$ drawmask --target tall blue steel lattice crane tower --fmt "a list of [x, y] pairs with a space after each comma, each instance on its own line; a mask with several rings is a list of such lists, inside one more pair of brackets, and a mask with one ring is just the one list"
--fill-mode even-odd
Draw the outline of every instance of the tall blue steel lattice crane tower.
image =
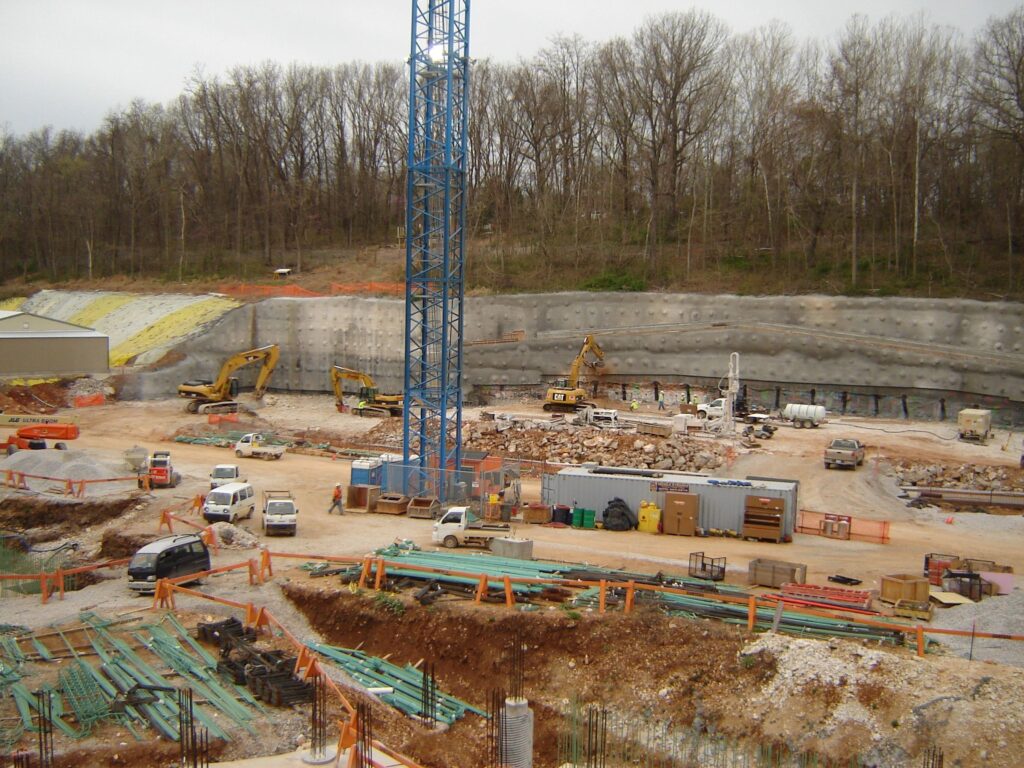
[[462, 458], [469, 0], [413, 0], [409, 69], [402, 456], [443, 502]]

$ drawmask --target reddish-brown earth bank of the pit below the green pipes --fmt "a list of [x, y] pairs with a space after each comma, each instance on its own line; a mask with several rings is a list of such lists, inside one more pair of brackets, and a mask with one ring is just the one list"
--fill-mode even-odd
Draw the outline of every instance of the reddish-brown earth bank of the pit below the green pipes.
[[[397, 613], [348, 591], [291, 583], [284, 592], [326, 642], [359, 647], [397, 665], [432, 663], [440, 689], [481, 709], [489, 691], [508, 689], [513, 638], [520, 633], [538, 768], [558, 765], [563, 715], [573, 697], [638, 724], [653, 716], [675, 728], [713, 726], [732, 738], [765, 740], [729, 702], [736, 691], [770, 677], [773, 667], [770, 659], [743, 664], [744, 635], [733, 628], [648, 610], [630, 616], [558, 608], [512, 614], [459, 603], [423, 608], [412, 600]], [[399, 751], [436, 768], [485, 765], [485, 723], [472, 715], [442, 738], [410, 735], [408, 729], [383, 734]]]

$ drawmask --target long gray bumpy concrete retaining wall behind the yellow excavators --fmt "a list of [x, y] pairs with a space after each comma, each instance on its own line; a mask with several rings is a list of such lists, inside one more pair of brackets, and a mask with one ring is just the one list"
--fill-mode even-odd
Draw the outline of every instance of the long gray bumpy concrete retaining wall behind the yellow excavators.
[[[465, 383], [537, 385], [564, 375], [583, 338], [605, 351], [606, 381], [717, 381], [729, 353], [743, 381], [819, 386], [824, 393], [966, 393], [1024, 403], [1024, 304], [826, 296], [540, 294], [472, 297], [467, 342], [522, 330], [516, 343], [469, 345]], [[173, 394], [212, 378], [225, 357], [282, 346], [271, 389], [329, 391], [328, 371], [367, 371], [402, 386], [403, 304], [395, 299], [274, 298], [234, 309], [178, 347], [185, 359], [141, 373], [126, 394]], [[240, 372], [251, 386], [255, 371]], [[953, 412], [954, 413], [954, 412]]]

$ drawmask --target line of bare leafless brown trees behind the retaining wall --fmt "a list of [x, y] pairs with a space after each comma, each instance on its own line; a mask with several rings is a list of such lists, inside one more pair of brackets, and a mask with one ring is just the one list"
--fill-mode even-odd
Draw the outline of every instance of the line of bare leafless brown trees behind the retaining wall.
[[[1024, 7], [827, 41], [702, 11], [470, 80], [471, 287], [1021, 293]], [[394, 243], [408, 71], [196, 75], [89, 135], [0, 134], [0, 276], [297, 270]]]

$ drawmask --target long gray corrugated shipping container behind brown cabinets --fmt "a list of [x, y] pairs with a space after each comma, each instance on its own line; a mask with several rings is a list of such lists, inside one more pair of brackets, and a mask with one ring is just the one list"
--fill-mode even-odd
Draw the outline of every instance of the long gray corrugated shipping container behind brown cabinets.
[[653, 502], [665, 509], [665, 494], [694, 494], [700, 500], [697, 525], [705, 530], [718, 528], [739, 532], [749, 496], [782, 499], [782, 537], [792, 541], [797, 527], [798, 492], [796, 480], [736, 480], [663, 470], [618, 467], [566, 467], [541, 478], [541, 500], [545, 504], [593, 509], [600, 521], [608, 502], [618, 498], [634, 512], [641, 502]]

